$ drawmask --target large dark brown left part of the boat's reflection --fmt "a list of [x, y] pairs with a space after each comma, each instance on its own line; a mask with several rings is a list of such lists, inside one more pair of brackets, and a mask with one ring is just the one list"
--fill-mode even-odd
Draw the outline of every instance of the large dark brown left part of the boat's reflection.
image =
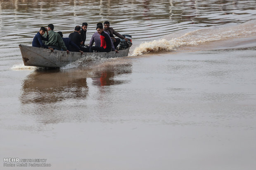
[[66, 99], [86, 98], [86, 76], [60, 70], [35, 71], [22, 85], [22, 103], [52, 103]]

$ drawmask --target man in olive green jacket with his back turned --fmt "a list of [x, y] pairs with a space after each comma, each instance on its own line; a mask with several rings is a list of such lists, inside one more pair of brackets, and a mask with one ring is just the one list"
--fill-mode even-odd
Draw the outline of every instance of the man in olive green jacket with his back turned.
[[[54, 25], [49, 24], [48, 25], [49, 41], [47, 41], [47, 42], [44, 41], [45, 45], [50, 46], [57, 50], [63, 49], [64, 51], [66, 51], [66, 53], [69, 53], [60, 34], [58, 34], [57, 32], [55, 32], [53, 30], [54, 30]], [[46, 37], [46, 35], [44, 35], [44, 37]]]

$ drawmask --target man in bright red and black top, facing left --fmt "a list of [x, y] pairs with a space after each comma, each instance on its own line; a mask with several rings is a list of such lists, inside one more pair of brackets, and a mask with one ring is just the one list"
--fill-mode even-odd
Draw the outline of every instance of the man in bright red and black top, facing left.
[[93, 51], [97, 52], [110, 52], [111, 51], [111, 39], [109, 36], [103, 31], [103, 26], [99, 25], [96, 28], [98, 34], [100, 34], [100, 47], [92, 46], [90, 47], [90, 53]]

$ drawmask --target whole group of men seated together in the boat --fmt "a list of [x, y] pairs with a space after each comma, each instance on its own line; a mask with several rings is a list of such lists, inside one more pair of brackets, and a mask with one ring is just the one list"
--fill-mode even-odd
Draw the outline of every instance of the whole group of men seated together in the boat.
[[[109, 21], [104, 22], [104, 27], [102, 23], [97, 23], [96, 30], [92, 35], [89, 46], [85, 45], [86, 31], [88, 24], [82, 23], [82, 27], [77, 25], [74, 32], [69, 34], [69, 37], [63, 38], [61, 31], [55, 32], [54, 25], [49, 24], [48, 28], [41, 27], [39, 32], [35, 35], [32, 41], [33, 47], [47, 48], [50, 50], [62, 50], [69, 53], [73, 52], [110, 52], [118, 51], [116, 47], [119, 45], [121, 39], [127, 41], [127, 39], [116, 32], [112, 27], [109, 27]], [[46, 34], [45, 34], [46, 32]], [[119, 38], [115, 38], [116, 35]], [[93, 44], [95, 44], [93, 46]]]

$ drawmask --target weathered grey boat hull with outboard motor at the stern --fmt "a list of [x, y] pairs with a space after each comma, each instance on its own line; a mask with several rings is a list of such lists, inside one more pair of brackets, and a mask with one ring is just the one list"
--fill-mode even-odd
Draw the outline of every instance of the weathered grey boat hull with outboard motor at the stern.
[[114, 57], [125, 57], [128, 56], [130, 46], [132, 45], [132, 40], [130, 35], [124, 35], [128, 38], [128, 41], [122, 40], [119, 44], [119, 53], [111, 51], [98, 52], [98, 53], [83, 53], [80, 52], [69, 52], [50, 49], [38, 48], [33, 46], [27, 46], [24, 44], [19, 44], [21, 50], [22, 59], [25, 66], [36, 66], [36, 67], [63, 67], [67, 64], [75, 62], [86, 56], [102, 57], [102, 58], [114, 58]]

